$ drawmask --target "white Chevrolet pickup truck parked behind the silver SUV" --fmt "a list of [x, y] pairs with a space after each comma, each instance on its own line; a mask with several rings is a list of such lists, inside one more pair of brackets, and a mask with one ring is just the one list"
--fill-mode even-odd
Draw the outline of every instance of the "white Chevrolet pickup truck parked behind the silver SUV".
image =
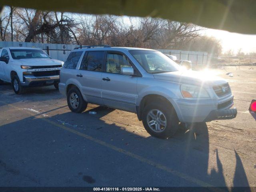
[[10, 82], [16, 94], [25, 87], [54, 85], [58, 89], [64, 62], [39, 48], [4, 47], [0, 50], [0, 83]]

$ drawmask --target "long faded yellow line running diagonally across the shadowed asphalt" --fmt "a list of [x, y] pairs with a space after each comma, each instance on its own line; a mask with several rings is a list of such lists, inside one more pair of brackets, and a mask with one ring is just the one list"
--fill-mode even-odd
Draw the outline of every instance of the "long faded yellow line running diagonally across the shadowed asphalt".
[[[1, 102], [1, 101], [0, 101], [0, 102]], [[1, 103], [6, 104], [6, 105], [8, 105], [8, 106], [11, 106], [12, 108], [15, 108], [15, 109], [17, 109], [17, 110], [21, 110], [20, 108], [17, 108], [16, 106], [14, 106], [14, 105], [12, 105], [12, 104], [8, 104], [8, 103], [5, 103], [5, 102], [1, 102]], [[104, 142], [104, 141], [102, 141], [102, 140], [96, 139], [96, 138], [94, 138], [94, 137], [92, 137], [92, 136], [89, 136], [89, 135], [87, 135], [87, 134], [84, 134], [84, 133], [78, 132], [78, 131], [76, 131], [76, 130], [74, 130], [74, 129], [68, 128], [68, 127], [65, 126], [65, 125], [58, 124], [58, 123], [56, 123], [56, 122], [54, 122], [54, 121], [52, 121], [52, 120], [49, 120], [48, 118], [45, 118], [44, 116], [39, 116], [38, 114], [35, 115], [35, 114], [33, 114], [31, 111], [27, 111], [27, 110], [24, 110], [24, 111], [25, 111], [27, 114], [32, 115], [34, 118], [38, 118], [38, 119], [40, 119], [40, 120], [43, 120], [43, 121], [45, 121], [45, 122], [48, 122], [49, 124], [52, 124], [52, 125], [54, 125], [54, 126], [56, 126], [56, 127], [58, 127], [58, 128], [62, 128], [62, 129], [64, 129], [64, 130], [68, 131], [68, 132], [72, 132], [72, 133], [74, 133], [74, 134], [76, 134], [76, 135], [78, 135], [78, 136], [81, 136], [81, 137], [86, 138], [86, 139], [88, 139], [88, 140], [91, 140], [91, 141], [93, 141], [93, 142], [95, 142], [95, 143], [97, 143], [97, 144], [100, 144], [100, 145], [102, 145], [102, 146], [105, 146], [105, 147], [110, 148], [110, 149], [112, 149], [112, 150], [115, 150], [115, 151], [117, 151], [117, 152], [120, 152], [120, 153], [122, 153], [122, 154], [125, 154], [125, 155], [127, 155], [127, 156], [130, 156], [130, 157], [132, 157], [132, 158], [134, 158], [134, 159], [137, 159], [137, 160], [139, 160], [139, 161], [141, 161], [141, 162], [144, 162], [144, 163], [146, 163], [146, 164], [149, 164], [149, 165], [151, 165], [151, 166], [154, 166], [154, 167], [156, 167], [156, 168], [158, 168], [158, 169], [160, 169], [160, 170], [164, 170], [164, 171], [166, 171], [166, 172], [169, 172], [169, 173], [171, 173], [171, 174], [173, 174], [173, 175], [176, 175], [176, 176], [178, 176], [178, 177], [180, 177], [180, 178], [182, 178], [182, 179], [185, 179], [185, 180], [187, 180], [187, 181], [189, 181], [189, 182], [193, 182], [193, 183], [195, 183], [195, 184], [197, 184], [197, 185], [199, 185], [199, 186], [202, 186], [202, 187], [214, 187], [214, 186], [212, 186], [211, 184], [208, 184], [208, 183], [206, 183], [206, 182], [204, 182], [204, 181], [202, 181], [202, 180], [198, 180], [198, 179], [196, 179], [196, 178], [194, 178], [194, 177], [190, 177], [190, 176], [188, 176], [188, 175], [186, 175], [186, 174], [184, 174], [184, 173], [181, 173], [181, 172], [178, 172], [178, 171], [176, 171], [176, 170], [173, 170], [172, 168], [169, 168], [169, 167], [167, 167], [167, 166], [164, 166], [164, 165], [162, 165], [162, 164], [160, 164], [160, 163], [154, 162], [154, 161], [152, 161], [152, 160], [149, 160], [149, 159], [147, 159], [147, 158], [144, 158], [144, 157], [142, 157], [142, 156], [139, 156], [139, 155], [137, 155], [137, 154], [134, 154], [134, 153], [132, 153], [132, 152], [129, 152], [129, 151], [127, 151], [127, 150], [124, 150], [124, 149], [122, 149], [122, 148], [118, 148], [118, 147], [116, 147], [116, 146], [114, 146], [114, 145], [112, 145], [112, 144], [108, 144], [108, 143], [106, 143], [106, 142]], [[218, 192], [223, 192], [222, 189], [216, 188], [216, 187], [210, 188], [210, 190], [212, 190], [212, 191], [218, 191]]]

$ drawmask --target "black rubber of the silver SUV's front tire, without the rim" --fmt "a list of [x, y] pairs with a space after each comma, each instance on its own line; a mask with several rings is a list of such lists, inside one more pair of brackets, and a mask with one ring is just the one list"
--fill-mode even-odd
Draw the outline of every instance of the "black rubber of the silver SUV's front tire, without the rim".
[[[158, 110], [158, 111], [162, 112], [163, 115], [161, 115], [160, 118], [166, 119], [166, 126], [165, 126], [165, 128], [161, 128], [162, 130], [160, 132], [156, 132], [156, 131], [152, 130], [152, 128], [150, 128], [150, 126], [148, 124], [148, 120], [147, 120], [148, 114], [150, 111], [154, 112], [154, 110]], [[151, 121], [154, 121], [154, 120], [152, 119]], [[162, 138], [162, 139], [169, 138], [169, 137], [173, 136], [176, 133], [178, 126], [179, 126], [179, 120], [178, 120], [178, 117], [177, 117], [177, 114], [176, 114], [174, 108], [164, 102], [154, 102], [153, 101], [152, 103], [146, 105], [142, 111], [142, 122], [143, 122], [144, 128], [150, 135], [152, 135], [154, 137]], [[155, 128], [156, 128], [156, 125], [154, 125], [154, 124], [159, 124], [158, 122], [160, 122], [160, 121], [157, 121], [157, 120], [154, 121], [152, 126], [155, 126]]]

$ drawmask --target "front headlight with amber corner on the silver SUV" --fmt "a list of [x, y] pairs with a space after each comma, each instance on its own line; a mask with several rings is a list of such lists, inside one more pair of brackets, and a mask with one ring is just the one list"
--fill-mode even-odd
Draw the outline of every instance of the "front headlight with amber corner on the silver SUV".
[[207, 91], [199, 86], [182, 84], [180, 91], [184, 98], [210, 98]]

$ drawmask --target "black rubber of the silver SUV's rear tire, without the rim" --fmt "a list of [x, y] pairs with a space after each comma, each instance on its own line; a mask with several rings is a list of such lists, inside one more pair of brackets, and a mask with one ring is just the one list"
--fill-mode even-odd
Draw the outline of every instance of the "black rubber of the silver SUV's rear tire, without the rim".
[[[70, 96], [71, 94], [75, 94], [78, 98], [78, 105], [77, 107], [74, 106], [71, 102], [70, 102], [70, 99], [72, 98], [72, 96]], [[74, 95], [73, 95], [74, 96]], [[75, 112], [75, 113], [82, 113], [84, 110], [86, 110], [86, 107], [87, 107], [87, 102], [84, 100], [81, 92], [79, 91], [78, 88], [74, 87], [74, 88], [71, 88], [69, 91], [68, 91], [68, 94], [67, 94], [67, 102], [68, 102], [68, 107], [69, 109], [72, 111], [72, 112]]]

